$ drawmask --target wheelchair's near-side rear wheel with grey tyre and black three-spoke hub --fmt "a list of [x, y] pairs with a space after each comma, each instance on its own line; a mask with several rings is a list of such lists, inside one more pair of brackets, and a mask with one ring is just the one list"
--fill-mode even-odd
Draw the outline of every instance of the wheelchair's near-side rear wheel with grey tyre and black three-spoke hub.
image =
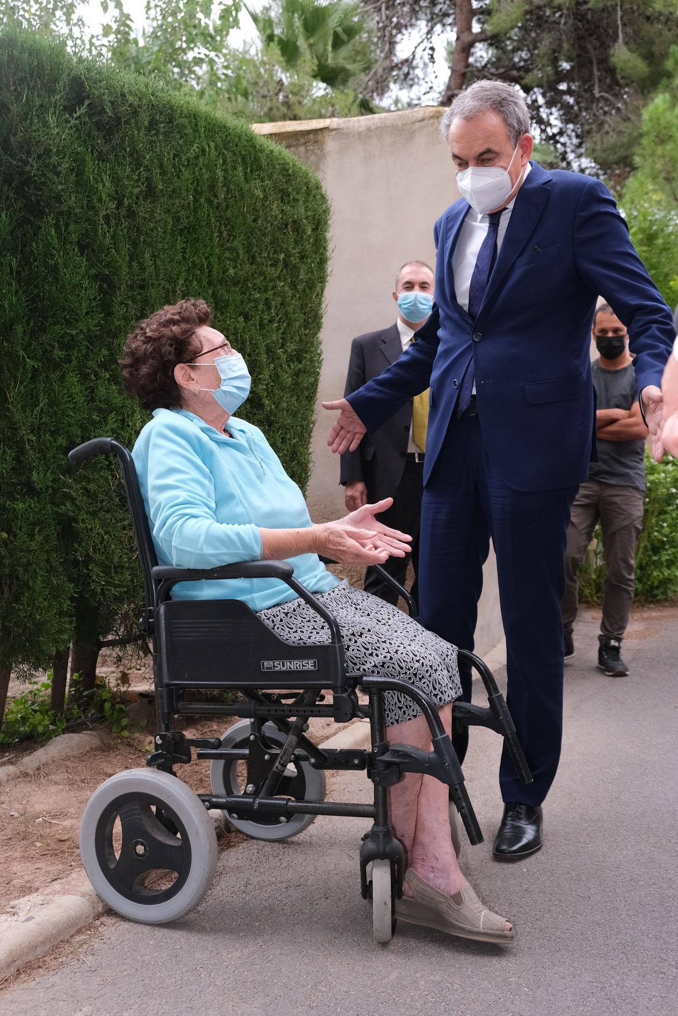
[[128, 769], [102, 783], [80, 823], [84, 870], [123, 917], [165, 925], [197, 906], [217, 869], [217, 835], [201, 801], [176, 776]]

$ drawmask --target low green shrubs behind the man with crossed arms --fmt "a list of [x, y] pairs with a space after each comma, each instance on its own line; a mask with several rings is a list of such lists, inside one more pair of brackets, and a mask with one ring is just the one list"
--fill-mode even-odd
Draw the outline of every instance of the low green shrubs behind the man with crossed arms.
[[[645, 452], [642, 532], [635, 554], [635, 599], [650, 604], [678, 596], [678, 461], [656, 462]], [[579, 598], [600, 604], [605, 588], [605, 555], [600, 525], [579, 568]]]

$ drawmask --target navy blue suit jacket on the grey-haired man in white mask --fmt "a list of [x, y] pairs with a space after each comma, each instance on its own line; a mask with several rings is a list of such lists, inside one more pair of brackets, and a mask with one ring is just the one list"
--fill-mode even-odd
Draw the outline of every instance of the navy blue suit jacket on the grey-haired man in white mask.
[[452, 273], [468, 211], [460, 198], [435, 224], [436, 303], [417, 340], [349, 402], [372, 433], [430, 387], [426, 482], [473, 355], [485, 445], [505, 483], [519, 491], [574, 487], [589, 474], [595, 433], [589, 350], [598, 297], [628, 329], [638, 390], [661, 383], [671, 311], [607, 187], [533, 163], [474, 321], [456, 302]]

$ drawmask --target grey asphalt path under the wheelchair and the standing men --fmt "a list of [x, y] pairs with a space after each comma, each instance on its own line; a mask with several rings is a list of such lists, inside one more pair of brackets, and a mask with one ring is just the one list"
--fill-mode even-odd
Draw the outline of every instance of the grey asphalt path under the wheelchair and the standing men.
[[[545, 848], [523, 864], [491, 859], [500, 741], [472, 738], [465, 770], [486, 842], [467, 843], [463, 869], [514, 922], [512, 949], [403, 923], [375, 945], [359, 892], [367, 824], [321, 818], [287, 844], [222, 854], [213, 888], [174, 927], [104, 918], [94, 947], [1, 996], [0, 1013], [675, 1016], [678, 610], [634, 614], [627, 679], [596, 670], [595, 622], [585, 612], [566, 668]], [[368, 789], [364, 774], [334, 779], [335, 797]]]

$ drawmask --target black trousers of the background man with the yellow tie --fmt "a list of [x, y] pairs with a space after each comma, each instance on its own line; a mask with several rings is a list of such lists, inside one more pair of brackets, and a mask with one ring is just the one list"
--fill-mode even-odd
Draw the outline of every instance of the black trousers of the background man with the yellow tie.
[[[408, 573], [408, 565], [412, 558], [415, 570], [415, 580], [412, 583], [410, 592], [416, 604], [419, 602], [419, 590], [417, 576], [419, 573], [419, 526], [422, 511], [422, 491], [424, 481], [423, 462], [406, 462], [403, 471], [403, 479], [393, 495], [393, 504], [387, 511], [381, 512], [377, 516], [384, 525], [389, 525], [392, 529], [399, 529], [412, 536], [412, 554], [404, 558], [388, 558], [382, 566], [392, 575], [393, 578], [405, 585]], [[368, 488], [368, 500], [372, 500]], [[365, 592], [371, 592], [374, 596], [385, 599], [388, 604], [397, 604], [397, 595], [390, 586], [382, 582], [378, 575], [375, 575], [369, 568], [365, 572], [365, 582], [363, 585]]]

